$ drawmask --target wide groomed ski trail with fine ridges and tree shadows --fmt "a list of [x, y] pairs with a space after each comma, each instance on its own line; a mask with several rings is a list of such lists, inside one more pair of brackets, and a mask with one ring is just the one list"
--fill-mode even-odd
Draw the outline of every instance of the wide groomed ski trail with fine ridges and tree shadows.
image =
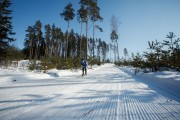
[[[118, 68], [105, 68], [105, 73], [108, 73], [106, 69]], [[96, 75], [98, 75], [98, 73], [96, 73]], [[56, 88], [53, 89], [51, 89], [53, 86], [47, 90], [44, 90], [44, 86], [37, 88], [38, 91], [35, 94], [45, 96], [42, 99], [46, 99], [46, 97], [47, 99], [52, 98], [52, 100], [47, 100], [47, 103], [38, 103], [38, 99], [34, 102], [18, 102], [18, 104], [14, 104], [13, 102], [8, 105], [6, 105], [7, 103], [1, 103], [0, 107], [6, 106], [8, 108], [12, 106], [14, 109], [1, 110], [0, 117], [4, 120], [179, 119], [180, 103], [169, 100], [167, 97], [149, 88], [147, 84], [142, 83], [138, 78], [134, 79], [132, 75], [122, 70], [116, 70], [109, 79], [105, 78], [103, 74], [100, 74], [100, 77], [96, 75], [89, 74], [81, 80], [76, 78], [75, 81], [70, 81], [71, 84], [68, 84], [68, 81], [66, 86], [60, 85], [59, 87], [57, 85], [55, 86]], [[95, 78], [95, 80], [92, 80], [92, 77]], [[73, 79], [73, 77], [67, 77], [66, 79]], [[65, 80], [63, 80], [63, 82], [65, 82]], [[78, 84], [72, 85], [72, 83]], [[155, 87], [156, 90], [159, 89], [156, 86], [153, 87]], [[23, 88], [20, 88], [16, 92], [20, 92], [22, 89]], [[24, 93], [28, 94], [30, 89], [31, 88], [24, 90]], [[161, 92], [162, 91], [161, 89]], [[169, 94], [166, 91], [164, 92], [165, 94]], [[62, 94], [62, 96], [53, 98], [53, 95], [56, 94]], [[19, 95], [21, 95], [21, 93], [18, 94], [18, 97], [16, 97], [17, 94], [15, 94], [8, 98], [21, 100], [22, 98], [20, 98], [21, 96]], [[39, 100], [41, 100], [41, 98]], [[78, 112], [76, 112], [76, 110]], [[3, 112], [3, 115], [1, 115], [1, 112]]]

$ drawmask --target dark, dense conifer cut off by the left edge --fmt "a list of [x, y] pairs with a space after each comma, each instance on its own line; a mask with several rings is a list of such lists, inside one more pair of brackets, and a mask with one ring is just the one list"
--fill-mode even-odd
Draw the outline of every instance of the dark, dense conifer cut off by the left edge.
[[12, 38], [15, 33], [12, 31], [12, 17], [10, 16], [12, 10], [8, 9], [10, 5], [10, 0], [0, 0], [0, 62], [8, 56], [10, 43], [15, 40]]

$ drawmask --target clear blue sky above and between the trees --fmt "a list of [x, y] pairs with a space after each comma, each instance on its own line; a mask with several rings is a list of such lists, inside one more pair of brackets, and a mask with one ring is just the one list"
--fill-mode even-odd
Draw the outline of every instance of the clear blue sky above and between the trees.
[[[25, 30], [28, 25], [34, 25], [40, 20], [45, 24], [53, 24], [67, 29], [67, 23], [59, 15], [68, 3], [72, 3], [75, 10], [79, 9], [79, 0], [12, 0], [13, 26], [17, 40], [15, 44], [23, 48]], [[180, 0], [98, 0], [103, 22], [98, 23], [103, 33], [96, 32], [95, 36], [107, 43], [110, 42], [110, 20], [115, 15], [120, 22], [119, 52], [123, 56], [123, 49], [131, 52], [147, 51], [147, 41], [163, 41], [169, 32], [180, 37]], [[92, 24], [89, 24], [89, 36], [92, 36]], [[70, 23], [75, 32], [80, 31], [77, 17]], [[84, 25], [85, 33], [85, 25]]]

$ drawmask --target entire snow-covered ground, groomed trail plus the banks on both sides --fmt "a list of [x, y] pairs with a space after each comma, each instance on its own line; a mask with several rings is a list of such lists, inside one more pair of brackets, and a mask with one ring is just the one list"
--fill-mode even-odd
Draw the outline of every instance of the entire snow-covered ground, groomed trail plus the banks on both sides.
[[0, 119], [179, 120], [179, 82], [179, 73], [135, 76], [113, 64], [85, 77], [80, 70], [0, 69]]

